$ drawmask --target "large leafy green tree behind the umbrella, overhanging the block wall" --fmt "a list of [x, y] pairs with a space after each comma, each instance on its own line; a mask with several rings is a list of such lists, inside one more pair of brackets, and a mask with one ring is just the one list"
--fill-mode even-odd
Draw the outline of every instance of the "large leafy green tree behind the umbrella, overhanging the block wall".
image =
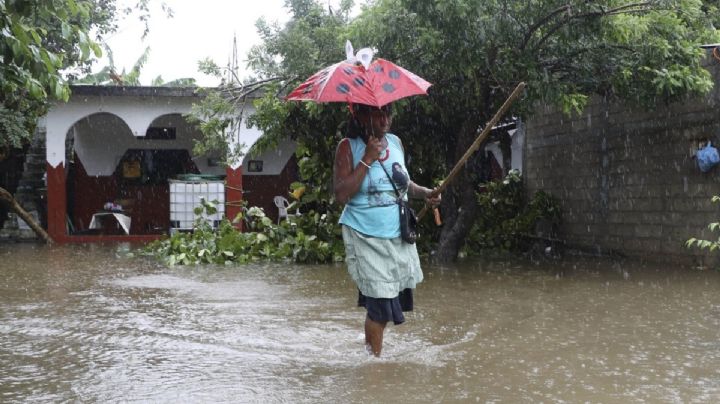
[[[713, 83], [697, 45], [720, 39], [712, 25], [717, 6], [700, 0], [378, 0], [355, 20], [350, 1], [338, 11], [312, 0], [286, 5], [288, 23], [259, 21], [263, 43], [248, 55], [257, 78], [272, 83], [252, 122], [265, 144], [298, 140], [301, 175], [325, 200], [346, 113], [281, 96], [342, 60], [346, 39], [434, 83], [428, 97], [398, 102], [393, 123], [419, 183], [444, 177], [520, 81], [528, 90], [516, 117], [530, 117], [537, 102], [578, 112], [592, 94], [652, 107], [708, 92]], [[454, 259], [462, 247], [477, 217], [480, 180], [467, 170], [446, 191], [438, 259]]]

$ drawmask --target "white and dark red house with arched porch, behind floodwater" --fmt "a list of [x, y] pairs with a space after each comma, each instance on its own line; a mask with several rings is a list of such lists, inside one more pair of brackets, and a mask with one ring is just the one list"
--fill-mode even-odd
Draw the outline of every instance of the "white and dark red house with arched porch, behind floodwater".
[[[295, 180], [294, 144], [227, 168], [218, 156], [194, 155], [201, 133], [184, 115], [200, 100], [197, 90], [73, 86], [70, 100], [49, 110], [40, 126], [46, 138], [47, 229], [55, 241], [148, 241], [167, 234], [170, 184], [178, 178], [222, 181], [227, 217], [240, 212], [237, 202], [246, 197], [273, 214], [271, 194], [286, 194]], [[248, 106], [245, 113], [252, 112]], [[236, 140], [249, 147], [260, 135], [241, 125]]]

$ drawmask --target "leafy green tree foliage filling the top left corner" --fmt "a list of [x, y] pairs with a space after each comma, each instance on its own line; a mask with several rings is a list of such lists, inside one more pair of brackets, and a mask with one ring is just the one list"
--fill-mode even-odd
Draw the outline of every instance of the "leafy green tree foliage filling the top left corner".
[[147, 32], [149, 2], [0, 0], [0, 149], [23, 147], [48, 102], [68, 99], [67, 79], [89, 70], [117, 18], [136, 14]]

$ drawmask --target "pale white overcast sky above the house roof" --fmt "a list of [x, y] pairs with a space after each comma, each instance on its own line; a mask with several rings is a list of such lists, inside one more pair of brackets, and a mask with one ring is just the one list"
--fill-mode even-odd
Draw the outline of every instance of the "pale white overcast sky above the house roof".
[[[119, 4], [127, 1], [120, 1]], [[284, 0], [166, 0], [174, 13], [167, 18], [160, 9], [160, 0], [151, 2], [150, 33], [142, 40], [144, 25], [137, 16], [120, 22], [116, 34], [107, 38], [113, 51], [118, 72], [129, 71], [145, 47], [150, 47], [147, 64], [141, 71], [140, 82], [149, 85], [161, 75], [164, 81], [194, 77], [201, 86], [216, 85], [217, 80], [202, 75], [197, 62], [210, 57], [220, 66], [227, 64], [232, 52], [233, 34], [238, 39], [238, 62], [241, 76], [245, 69], [245, 54], [260, 39], [255, 21], [265, 17], [268, 22], [288, 20]], [[340, 51], [342, 52], [342, 51]], [[98, 71], [107, 66], [107, 59], [95, 64]]]

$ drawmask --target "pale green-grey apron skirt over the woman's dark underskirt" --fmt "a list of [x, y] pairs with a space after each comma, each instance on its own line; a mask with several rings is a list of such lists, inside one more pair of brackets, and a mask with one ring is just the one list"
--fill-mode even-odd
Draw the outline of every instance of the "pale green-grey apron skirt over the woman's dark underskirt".
[[400, 237], [366, 236], [344, 225], [342, 233], [348, 273], [363, 295], [392, 299], [403, 289], [414, 289], [422, 282], [415, 244]]

